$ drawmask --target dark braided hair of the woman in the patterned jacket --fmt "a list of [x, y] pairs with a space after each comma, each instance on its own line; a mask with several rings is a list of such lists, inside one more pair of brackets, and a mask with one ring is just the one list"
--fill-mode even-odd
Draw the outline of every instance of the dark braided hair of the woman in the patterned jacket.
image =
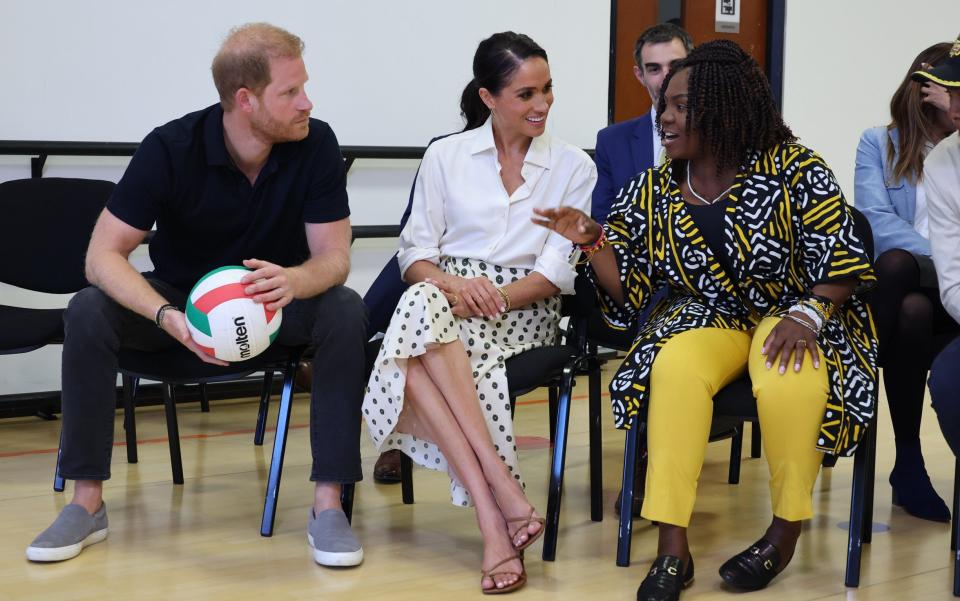
[[[699, 134], [701, 144], [716, 158], [718, 170], [740, 167], [753, 150], [796, 141], [760, 65], [737, 44], [715, 40], [697, 46], [670, 70], [664, 92], [683, 69], [690, 69], [686, 128]], [[661, 93], [658, 132], [662, 132], [660, 115], [665, 110], [666, 94]]]

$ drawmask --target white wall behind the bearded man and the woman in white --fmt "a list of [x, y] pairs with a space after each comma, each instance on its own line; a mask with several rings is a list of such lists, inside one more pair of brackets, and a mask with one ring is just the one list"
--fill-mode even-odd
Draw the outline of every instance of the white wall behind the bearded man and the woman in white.
[[[556, 102], [548, 127], [592, 147], [606, 125], [606, 0], [33, 0], [0, 9], [0, 140], [139, 141], [153, 127], [216, 101], [209, 65], [226, 31], [264, 20], [306, 43], [314, 116], [344, 145], [424, 146], [462, 128], [459, 99], [477, 43], [530, 35], [550, 56]], [[187, 18], [189, 16], [189, 18]], [[116, 181], [127, 159], [51, 157], [48, 177]], [[399, 223], [417, 161], [354, 163], [354, 224]], [[28, 157], [0, 156], [0, 181], [30, 176]], [[349, 286], [363, 293], [396, 240], [360, 240]], [[149, 264], [144, 249], [133, 257]], [[0, 303], [58, 307], [67, 296], [0, 284]], [[59, 348], [0, 360], [0, 395], [57, 390]]]

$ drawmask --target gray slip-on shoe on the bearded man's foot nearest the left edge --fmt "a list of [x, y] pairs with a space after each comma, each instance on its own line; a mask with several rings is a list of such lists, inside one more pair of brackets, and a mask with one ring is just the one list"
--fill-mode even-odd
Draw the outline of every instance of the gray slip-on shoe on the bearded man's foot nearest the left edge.
[[107, 506], [101, 504], [93, 515], [71, 503], [63, 508], [50, 527], [27, 547], [30, 561], [63, 561], [80, 555], [84, 547], [107, 538]]

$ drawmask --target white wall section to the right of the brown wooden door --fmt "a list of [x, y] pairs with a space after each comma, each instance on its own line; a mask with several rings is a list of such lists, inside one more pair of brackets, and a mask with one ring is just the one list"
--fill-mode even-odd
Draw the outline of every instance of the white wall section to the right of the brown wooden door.
[[956, 39], [957, 0], [788, 0], [784, 118], [853, 198], [857, 142], [890, 121], [890, 97], [921, 50]]

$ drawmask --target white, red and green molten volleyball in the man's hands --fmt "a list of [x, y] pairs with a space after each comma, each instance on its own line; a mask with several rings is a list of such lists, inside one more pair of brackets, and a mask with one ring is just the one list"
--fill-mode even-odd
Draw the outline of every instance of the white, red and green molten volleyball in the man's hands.
[[270, 346], [280, 331], [281, 312], [268, 311], [244, 293], [240, 279], [250, 270], [240, 265], [214, 269], [187, 297], [187, 328], [208, 355], [245, 361]]

